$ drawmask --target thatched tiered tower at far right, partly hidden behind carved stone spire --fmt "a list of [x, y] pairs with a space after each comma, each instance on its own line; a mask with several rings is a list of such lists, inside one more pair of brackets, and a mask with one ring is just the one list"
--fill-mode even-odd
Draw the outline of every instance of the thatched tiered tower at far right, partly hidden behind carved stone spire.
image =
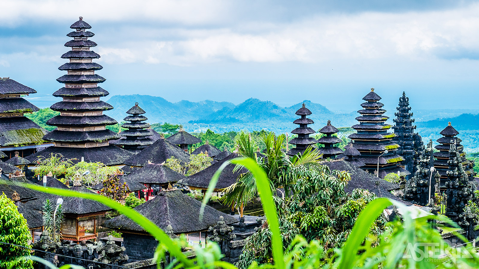
[[436, 158], [434, 161], [434, 168], [439, 172], [441, 176], [440, 179], [440, 186], [441, 191], [445, 191], [445, 182], [450, 180], [448, 172], [451, 171], [450, 167], [450, 153], [449, 150], [451, 146], [454, 145], [455, 151], [459, 155], [460, 163], [462, 168], [468, 175], [468, 180], [474, 179], [474, 171], [472, 168], [474, 167], [474, 162], [469, 161], [466, 159], [466, 153], [463, 152], [464, 146], [461, 145], [462, 140], [459, 137], [456, 137], [459, 132], [454, 129], [451, 123], [448, 123], [447, 127], [444, 128], [439, 134], [442, 134], [443, 137], [437, 139], [436, 141], [439, 142], [441, 145], [437, 145], [434, 148], [438, 150], [438, 152], [434, 152], [433, 156]]

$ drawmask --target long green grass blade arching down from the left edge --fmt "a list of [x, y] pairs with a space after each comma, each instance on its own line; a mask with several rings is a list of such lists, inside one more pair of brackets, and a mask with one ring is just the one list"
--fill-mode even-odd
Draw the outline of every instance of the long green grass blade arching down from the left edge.
[[[10, 182], [9, 184], [12, 184], [12, 183]], [[181, 247], [177, 242], [172, 241], [170, 237], [168, 237], [168, 235], [166, 235], [163, 232], [163, 230], [161, 230], [157, 225], [152, 223], [146, 217], [136, 212], [134, 209], [131, 209], [125, 205], [122, 205], [119, 202], [116, 202], [110, 198], [107, 198], [105, 196], [95, 194], [95, 193], [77, 192], [77, 191], [70, 191], [70, 190], [57, 189], [57, 188], [44, 188], [43, 186], [40, 186], [37, 184], [19, 184], [19, 185], [31, 190], [35, 190], [35, 191], [42, 191], [42, 192], [56, 194], [60, 196], [80, 197], [84, 199], [90, 199], [97, 202], [101, 202], [104, 205], [110, 208], [113, 208], [114, 210], [117, 210], [119, 213], [124, 214], [125, 216], [127, 216], [128, 218], [130, 218], [131, 220], [139, 224], [141, 227], [143, 227], [145, 231], [148, 231], [150, 235], [152, 235], [158, 241], [164, 244], [168, 248], [168, 251], [170, 252], [172, 256], [181, 260], [187, 267], [193, 266], [193, 262], [182, 254]]]

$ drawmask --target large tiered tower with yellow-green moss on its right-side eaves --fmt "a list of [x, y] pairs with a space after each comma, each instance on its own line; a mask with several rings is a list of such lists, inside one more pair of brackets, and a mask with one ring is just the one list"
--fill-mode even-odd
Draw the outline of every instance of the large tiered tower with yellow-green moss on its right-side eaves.
[[389, 117], [383, 115], [386, 110], [382, 108], [384, 104], [379, 102], [381, 97], [371, 88], [363, 100], [363, 109], [358, 111], [361, 116], [356, 118], [359, 124], [352, 126], [357, 133], [348, 136], [354, 141], [354, 148], [361, 153], [359, 160], [365, 163], [362, 168], [373, 174], [379, 163], [379, 178], [389, 173], [397, 174], [398, 171], [401, 177], [409, 175], [408, 170], [399, 166], [404, 158], [396, 153], [399, 145], [391, 141], [396, 135], [388, 133], [392, 126], [385, 124]]

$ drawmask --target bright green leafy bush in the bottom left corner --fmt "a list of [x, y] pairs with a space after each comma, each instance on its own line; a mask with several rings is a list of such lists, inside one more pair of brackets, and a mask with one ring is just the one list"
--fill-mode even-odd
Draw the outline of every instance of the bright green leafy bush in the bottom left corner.
[[0, 195], [0, 242], [25, 248], [0, 244], [0, 269], [33, 269], [31, 260], [21, 258], [30, 255], [28, 242], [31, 239], [27, 221], [13, 201], [3, 193]]

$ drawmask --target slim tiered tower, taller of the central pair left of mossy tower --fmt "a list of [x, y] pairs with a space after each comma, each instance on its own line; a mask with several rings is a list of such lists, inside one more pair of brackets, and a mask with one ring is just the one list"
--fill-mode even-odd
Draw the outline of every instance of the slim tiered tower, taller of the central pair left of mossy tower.
[[313, 149], [315, 149], [313, 145], [318, 143], [318, 140], [313, 137], [309, 137], [309, 134], [316, 133], [311, 127], [308, 127], [308, 124], [314, 123], [313, 120], [306, 117], [308, 115], [311, 115], [311, 111], [309, 111], [309, 109], [307, 109], [306, 105], [303, 103], [303, 107], [298, 109], [295, 114], [301, 116], [301, 118], [293, 122], [295, 124], [298, 124], [299, 127], [291, 131], [292, 134], [298, 135], [298, 137], [295, 137], [291, 139], [291, 141], [289, 141], [289, 144], [296, 145], [295, 148], [291, 148], [287, 152], [287, 154], [291, 156], [294, 156], [298, 153], [303, 154], [308, 148], [308, 146], [312, 146]]

